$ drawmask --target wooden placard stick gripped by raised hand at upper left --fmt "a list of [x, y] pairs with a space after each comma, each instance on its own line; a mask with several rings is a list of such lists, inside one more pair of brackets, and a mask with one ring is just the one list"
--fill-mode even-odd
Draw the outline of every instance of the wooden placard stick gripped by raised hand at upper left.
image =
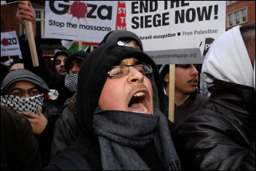
[[[25, 5], [28, 6], [28, 1], [26, 1]], [[37, 53], [36, 53], [36, 43], [35, 43], [35, 38], [33, 35], [33, 27], [32, 27], [32, 22], [29, 20], [25, 20], [25, 33], [28, 37], [28, 44], [29, 44], [29, 49], [31, 50], [31, 58], [32, 58], [32, 62], [33, 62], [33, 67], [38, 67], [39, 59], [38, 59]]]

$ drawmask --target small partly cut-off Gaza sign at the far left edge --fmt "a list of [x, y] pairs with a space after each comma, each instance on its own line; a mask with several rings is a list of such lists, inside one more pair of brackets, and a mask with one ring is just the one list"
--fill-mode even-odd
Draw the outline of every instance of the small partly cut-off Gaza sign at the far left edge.
[[16, 55], [21, 55], [16, 31], [1, 33], [1, 57]]

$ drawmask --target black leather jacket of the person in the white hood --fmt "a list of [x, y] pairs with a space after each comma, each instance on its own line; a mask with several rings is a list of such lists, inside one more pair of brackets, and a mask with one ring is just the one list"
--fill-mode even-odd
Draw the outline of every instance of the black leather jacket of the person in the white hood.
[[255, 170], [254, 88], [215, 80], [209, 104], [177, 130], [185, 170]]

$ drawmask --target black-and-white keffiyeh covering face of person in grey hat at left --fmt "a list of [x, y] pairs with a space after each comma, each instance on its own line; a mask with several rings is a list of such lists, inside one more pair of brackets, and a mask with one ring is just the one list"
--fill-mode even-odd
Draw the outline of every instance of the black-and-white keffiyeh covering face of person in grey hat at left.
[[22, 98], [13, 95], [1, 96], [1, 106], [15, 110], [18, 113], [25, 111], [38, 114], [37, 108], [39, 107], [40, 110], [42, 109], [43, 101], [43, 93], [29, 98]]

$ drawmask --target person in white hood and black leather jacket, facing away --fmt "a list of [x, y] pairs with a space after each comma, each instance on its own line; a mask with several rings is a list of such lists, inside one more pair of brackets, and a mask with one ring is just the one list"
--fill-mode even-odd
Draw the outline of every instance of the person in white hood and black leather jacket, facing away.
[[255, 170], [255, 23], [220, 35], [202, 75], [209, 104], [177, 130], [183, 169]]

